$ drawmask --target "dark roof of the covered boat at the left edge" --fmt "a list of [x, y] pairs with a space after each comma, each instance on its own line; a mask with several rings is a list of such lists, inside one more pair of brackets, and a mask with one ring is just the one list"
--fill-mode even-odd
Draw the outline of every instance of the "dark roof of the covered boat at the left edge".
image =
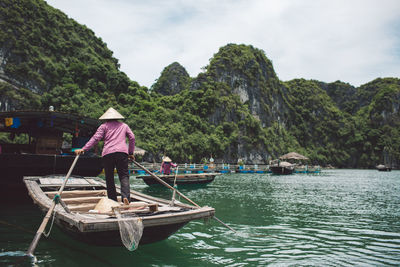
[[42, 132], [91, 136], [99, 125], [98, 119], [58, 111], [19, 110], [0, 112], [0, 132], [28, 133], [32, 136], [40, 135]]

